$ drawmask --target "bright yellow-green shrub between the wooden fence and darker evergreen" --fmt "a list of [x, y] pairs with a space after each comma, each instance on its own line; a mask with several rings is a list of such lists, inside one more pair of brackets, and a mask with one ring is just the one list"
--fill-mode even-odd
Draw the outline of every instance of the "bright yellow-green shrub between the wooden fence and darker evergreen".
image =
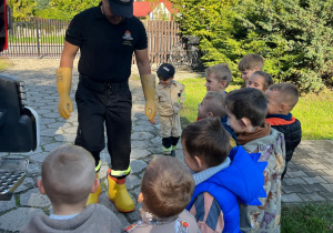
[[238, 18], [233, 7], [238, 0], [173, 0], [172, 3], [179, 10], [175, 20], [181, 24], [182, 34], [200, 37], [204, 64], [228, 63], [236, 77], [236, 59], [243, 52], [240, 41], [233, 37]]

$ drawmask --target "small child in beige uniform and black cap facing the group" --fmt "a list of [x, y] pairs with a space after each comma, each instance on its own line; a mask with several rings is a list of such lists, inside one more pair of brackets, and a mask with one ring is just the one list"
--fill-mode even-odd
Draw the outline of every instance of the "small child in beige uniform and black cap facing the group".
[[[174, 67], [163, 63], [158, 69], [160, 83], [155, 88], [157, 110], [160, 115], [162, 151], [175, 156], [176, 143], [182, 133], [179, 112], [185, 101], [185, 87], [174, 81]], [[152, 121], [155, 123], [155, 120]]]

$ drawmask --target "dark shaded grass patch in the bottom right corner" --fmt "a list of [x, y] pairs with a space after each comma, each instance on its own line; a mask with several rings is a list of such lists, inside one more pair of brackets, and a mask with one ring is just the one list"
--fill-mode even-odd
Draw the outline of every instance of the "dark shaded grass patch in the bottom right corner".
[[282, 233], [333, 232], [333, 204], [316, 203], [283, 206]]

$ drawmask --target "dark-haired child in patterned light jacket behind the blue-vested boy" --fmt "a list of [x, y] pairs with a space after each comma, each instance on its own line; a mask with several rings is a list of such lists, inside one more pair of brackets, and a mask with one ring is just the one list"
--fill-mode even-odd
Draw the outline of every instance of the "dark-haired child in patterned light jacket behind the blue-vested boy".
[[268, 100], [262, 91], [253, 88], [232, 91], [226, 95], [225, 105], [239, 144], [249, 153], [260, 153], [259, 161], [268, 162], [263, 172], [266, 197], [260, 199], [261, 205], [240, 205], [241, 231], [280, 232], [284, 135], [265, 122]]

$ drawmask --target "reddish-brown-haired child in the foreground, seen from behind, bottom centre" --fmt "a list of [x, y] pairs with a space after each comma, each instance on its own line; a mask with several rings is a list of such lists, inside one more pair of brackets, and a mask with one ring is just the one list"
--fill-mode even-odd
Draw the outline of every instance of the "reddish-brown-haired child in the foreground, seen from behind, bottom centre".
[[193, 190], [193, 178], [178, 159], [154, 158], [141, 181], [141, 221], [128, 226], [127, 232], [199, 233], [195, 219], [185, 210]]

